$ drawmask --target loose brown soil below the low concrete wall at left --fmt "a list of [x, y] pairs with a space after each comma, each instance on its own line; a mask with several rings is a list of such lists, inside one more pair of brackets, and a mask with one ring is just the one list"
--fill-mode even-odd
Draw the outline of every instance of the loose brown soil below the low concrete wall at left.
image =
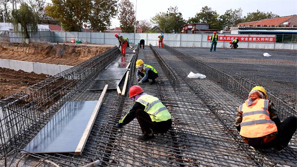
[[45, 74], [0, 68], [0, 100], [48, 78]]

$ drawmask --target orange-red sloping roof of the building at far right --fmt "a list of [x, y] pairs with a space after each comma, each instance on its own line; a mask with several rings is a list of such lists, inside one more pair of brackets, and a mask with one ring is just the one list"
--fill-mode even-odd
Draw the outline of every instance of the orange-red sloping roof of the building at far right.
[[258, 21], [252, 21], [252, 22], [245, 22], [245, 23], [239, 23], [237, 24], [237, 26], [254, 26], [256, 27], [257, 25], [267, 25], [267, 26], [271, 26], [271, 25], [280, 25], [281, 23], [287, 21], [288, 19], [290, 19], [292, 16], [286, 16], [286, 17], [277, 17], [277, 18], [270, 18], [270, 19], [264, 19], [264, 20], [258, 20]]

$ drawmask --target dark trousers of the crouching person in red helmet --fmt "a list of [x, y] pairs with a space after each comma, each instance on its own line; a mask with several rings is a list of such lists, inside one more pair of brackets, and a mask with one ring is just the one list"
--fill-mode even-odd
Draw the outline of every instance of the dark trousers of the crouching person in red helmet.
[[135, 111], [135, 116], [143, 134], [150, 134], [151, 130], [155, 133], [165, 133], [171, 128], [171, 119], [155, 122], [150, 119], [149, 114], [146, 111], [141, 109]]

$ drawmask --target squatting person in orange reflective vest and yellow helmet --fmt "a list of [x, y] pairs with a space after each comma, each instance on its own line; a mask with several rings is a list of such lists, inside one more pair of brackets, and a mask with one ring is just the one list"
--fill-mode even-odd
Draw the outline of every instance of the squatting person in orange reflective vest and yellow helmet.
[[235, 122], [243, 140], [255, 149], [284, 149], [297, 128], [297, 117], [290, 116], [281, 122], [274, 104], [267, 100], [261, 86], [251, 89], [248, 99], [239, 106]]

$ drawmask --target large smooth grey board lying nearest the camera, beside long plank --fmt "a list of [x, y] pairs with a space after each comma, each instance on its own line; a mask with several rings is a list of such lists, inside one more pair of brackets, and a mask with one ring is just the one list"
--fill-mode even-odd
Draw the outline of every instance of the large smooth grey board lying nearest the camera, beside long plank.
[[66, 102], [22, 153], [74, 153], [97, 103]]

